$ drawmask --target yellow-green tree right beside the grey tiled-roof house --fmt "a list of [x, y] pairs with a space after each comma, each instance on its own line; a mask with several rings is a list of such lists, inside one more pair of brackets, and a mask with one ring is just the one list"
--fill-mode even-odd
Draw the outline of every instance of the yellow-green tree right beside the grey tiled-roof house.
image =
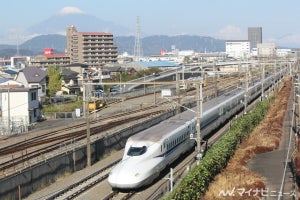
[[51, 97], [61, 89], [62, 77], [59, 68], [56, 66], [49, 66], [47, 69], [47, 78], [47, 95], [51, 99]]

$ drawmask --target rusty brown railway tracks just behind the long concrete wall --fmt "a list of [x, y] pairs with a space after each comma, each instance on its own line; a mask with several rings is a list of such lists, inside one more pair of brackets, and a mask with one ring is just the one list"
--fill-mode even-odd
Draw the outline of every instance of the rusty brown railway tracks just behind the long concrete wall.
[[[159, 109], [158, 109], [159, 108]], [[139, 110], [115, 114], [109, 117], [91, 121], [91, 136], [104, 133], [112, 128], [124, 124], [134, 123], [137, 120], [147, 119], [162, 114], [165, 110], [158, 105], [149, 106]], [[19, 141], [0, 148], [0, 172], [2, 176], [22, 170], [34, 162], [40, 156], [46, 156], [61, 147], [61, 144], [76, 143], [86, 138], [86, 123], [80, 123], [72, 127], [46, 132], [42, 135]], [[1, 174], [0, 174], [1, 176]]]

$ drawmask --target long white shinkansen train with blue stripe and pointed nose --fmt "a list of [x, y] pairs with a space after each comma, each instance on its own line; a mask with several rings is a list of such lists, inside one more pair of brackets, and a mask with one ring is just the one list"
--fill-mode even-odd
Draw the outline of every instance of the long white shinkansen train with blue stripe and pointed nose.
[[[281, 75], [277, 75], [277, 81]], [[264, 88], [269, 88], [274, 77], [267, 77]], [[261, 82], [249, 87], [248, 102], [261, 94]], [[229, 120], [243, 109], [244, 91], [241, 89], [211, 99], [203, 104], [201, 137]], [[108, 182], [114, 189], [137, 189], [157, 178], [173, 161], [192, 147], [196, 133], [195, 113], [185, 111], [128, 138], [122, 160], [112, 169]]]

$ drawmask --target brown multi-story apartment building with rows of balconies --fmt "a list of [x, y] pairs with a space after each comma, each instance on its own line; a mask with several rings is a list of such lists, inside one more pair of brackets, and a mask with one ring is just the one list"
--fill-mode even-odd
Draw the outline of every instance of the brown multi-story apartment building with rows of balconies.
[[118, 49], [114, 37], [105, 32], [77, 32], [75, 26], [67, 27], [66, 54], [72, 63], [89, 66], [117, 62]]

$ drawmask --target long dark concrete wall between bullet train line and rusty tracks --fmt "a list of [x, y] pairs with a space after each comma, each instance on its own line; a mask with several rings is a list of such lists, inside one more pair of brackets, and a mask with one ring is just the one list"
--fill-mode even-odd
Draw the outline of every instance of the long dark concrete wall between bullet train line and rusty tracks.
[[[112, 150], [124, 148], [127, 138], [131, 135], [149, 128], [171, 116], [175, 112], [169, 112], [152, 120], [120, 130], [91, 144], [92, 163], [101, 160]], [[74, 151], [64, 152], [54, 158], [45, 160], [35, 166], [8, 176], [0, 180], [0, 200], [18, 199], [19, 186], [21, 197], [26, 197], [32, 192], [46, 187], [66, 173], [81, 170], [86, 166], [86, 146]]]

